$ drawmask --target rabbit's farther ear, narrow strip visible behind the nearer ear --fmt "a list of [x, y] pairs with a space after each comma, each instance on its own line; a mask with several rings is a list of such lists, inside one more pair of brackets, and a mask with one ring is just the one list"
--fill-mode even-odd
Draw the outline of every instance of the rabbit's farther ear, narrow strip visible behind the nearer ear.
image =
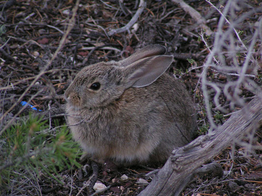
[[126, 67], [140, 59], [150, 57], [150, 56], [165, 54], [166, 51], [167, 49], [164, 46], [157, 45], [157, 44], [148, 45], [144, 47], [143, 49], [136, 51], [134, 54], [127, 57], [126, 59], [121, 60], [120, 65], [122, 67]]

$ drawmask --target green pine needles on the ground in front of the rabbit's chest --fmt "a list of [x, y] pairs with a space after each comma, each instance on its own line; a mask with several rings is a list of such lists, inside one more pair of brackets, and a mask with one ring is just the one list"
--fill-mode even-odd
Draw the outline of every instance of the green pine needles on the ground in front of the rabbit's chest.
[[80, 148], [67, 127], [48, 129], [46, 123], [30, 115], [0, 135], [0, 195], [23, 195], [25, 185], [39, 187], [43, 179], [63, 184], [59, 172], [81, 167]]

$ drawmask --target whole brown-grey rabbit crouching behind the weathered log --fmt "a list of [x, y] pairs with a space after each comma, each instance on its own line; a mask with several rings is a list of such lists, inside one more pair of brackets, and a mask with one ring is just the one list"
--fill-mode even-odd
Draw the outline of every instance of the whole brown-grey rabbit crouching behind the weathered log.
[[173, 55], [149, 45], [124, 60], [84, 67], [65, 91], [73, 138], [101, 163], [165, 162], [197, 127], [185, 85], [165, 71]]

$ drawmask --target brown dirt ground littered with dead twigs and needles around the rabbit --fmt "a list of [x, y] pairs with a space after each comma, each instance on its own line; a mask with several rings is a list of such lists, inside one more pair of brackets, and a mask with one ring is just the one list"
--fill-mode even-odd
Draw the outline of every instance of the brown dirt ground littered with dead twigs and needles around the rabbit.
[[[1, 1], [2, 5], [5, 1]], [[7, 111], [25, 92], [34, 76], [45, 68], [51, 60], [59, 42], [66, 30], [68, 17], [72, 16], [75, 6], [74, 0], [14, 0], [8, 1], [0, 16], [0, 87], [13, 84], [0, 94], [1, 112]], [[204, 16], [207, 25], [216, 31], [220, 14], [210, 7], [204, 0], [185, 0], [195, 10]], [[199, 80], [201, 69], [187, 73], [191, 64], [187, 59], [194, 59], [201, 66], [208, 50], [204, 43], [199, 41], [200, 25], [196, 24], [190, 15], [185, 13], [172, 1], [147, 0], [146, 9], [137, 21], [137, 28], [110, 36], [111, 29], [126, 25], [138, 9], [139, 0], [126, 1], [119, 5], [117, 0], [81, 0], [76, 14], [76, 22], [66, 38], [65, 44], [55, 60], [46, 69], [29, 91], [23, 95], [23, 101], [35, 105], [38, 110], [46, 111], [49, 108], [62, 108], [65, 104], [64, 91], [74, 78], [74, 75], [83, 67], [99, 62], [123, 59], [149, 44], [160, 44], [167, 47], [167, 54], [173, 54], [174, 62], [170, 73], [186, 83], [188, 91], [198, 105], [198, 125], [203, 126], [206, 117], [203, 115], [203, 103], [193, 91]], [[212, 0], [219, 6], [219, 0]], [[251, 0], [250, 6], [259, 7], [259, 0]], [[1, 10], [0, 9], [0, 10]], [[246, 8], [248, 9], [248, 8]], [[261, 13], [260, 13], [261, 14]], [[258, 20], [259, 14], [254, 14], [241, 26], [245, 36], [252, 35], [247, 23]], [[208, 43], [212, 45], [212, 37]], [[181, 74], [184, 73], [184, 74]], [[258, 70], [262, 74], [261, 70]], [[219, 78], [223, 81], [223, 77]], [[262, 81], [256, 81], [260, 86]], [[245, 97], [253, 95], [243, 90]], [[225, 100], [226, 101], [226, 100]], [[9, 116], [14, 116], [22, 108], [16, 105]], [[30, 109], [24, 110], [21, 115], [27, 115]], [[54, 112], [53, 119], [65, 123], [59, 110]], [[224, 119], [226, 120], [226, 119]], [[221, 122], [223, 123], [223, 122]], [[256, 144], [262, 146], [262, 131], [256, 134]], [[214, 157], [224, 171], [223, 177], [206, 174], [196, 177], [186, 186], [182, 196], [261, 196], [262, 195], [262, 155], [260, 150], [245, 154], [244, 147], [228, 147], [220, 155]], [[161, 165], [154, 169], [161, 168]], [[142, 178], [150, 183], [151, 178], [145, 174], [151, 172], [147, 166], [132, 166], [116, 168], [114, 165], [98, 168], [87, 164], [85, 169], [63, 171], [65, 185], [52, 183], [45, 179], [39, 181], [43, 196], [90, 195], [94, 191], [84, 188], [85, 182], [92, 173], [97, 172], [96, 182], [106, 186], [108, 190], [101, 193], [104, 196], [136, 196], [146, 188], [145, 183], [139, 183]], [[125, 174], [127, 179], [121, 179]], [[73, 182], [72, 182], [73, 180]], [[67, 186], [73, 183], [73, 186]], [[73, 187], [73, 188], [72, 188]], [[36, 194], [31, 188], [29, 195]], [[25, 193], [25, 195], [27, 195]]]

